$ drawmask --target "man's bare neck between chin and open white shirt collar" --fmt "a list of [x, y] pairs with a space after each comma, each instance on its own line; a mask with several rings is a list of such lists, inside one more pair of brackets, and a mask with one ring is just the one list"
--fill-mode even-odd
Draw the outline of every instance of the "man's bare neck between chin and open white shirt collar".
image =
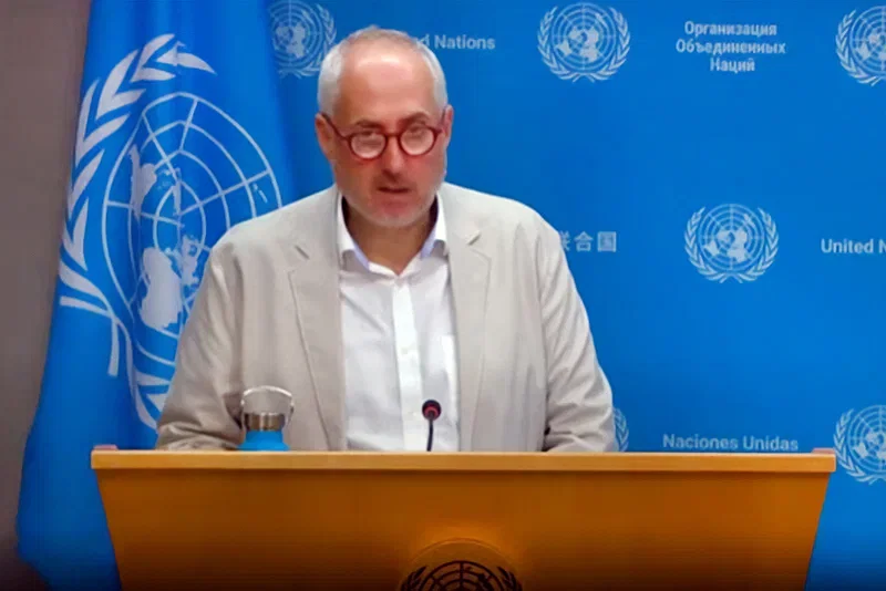
[[426, 216], [403, 228], [379, 228], [356, 215], [347, 203], [342, 205], [344, 225], [367, 259], [391, 269], [396, 274], [402, 273], [421, 251], [436, 220], [436, 201]]

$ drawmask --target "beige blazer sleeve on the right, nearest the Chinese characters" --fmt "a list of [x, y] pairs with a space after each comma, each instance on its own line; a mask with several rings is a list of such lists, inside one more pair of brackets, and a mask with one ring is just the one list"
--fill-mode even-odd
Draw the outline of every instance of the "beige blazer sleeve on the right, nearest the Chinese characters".
[[559, 232], [542, 222], [538, 274], [547, 356], [546, 452], [614, 452], [612, 392]]

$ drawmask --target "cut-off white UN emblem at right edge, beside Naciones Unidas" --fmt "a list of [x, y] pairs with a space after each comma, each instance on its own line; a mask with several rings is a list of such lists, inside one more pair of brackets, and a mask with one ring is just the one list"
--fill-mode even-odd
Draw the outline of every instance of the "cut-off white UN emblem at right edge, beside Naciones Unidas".
[[839, 465], [859, 483], [886, 483], [886, 404], [847, 411], [834, 432]]

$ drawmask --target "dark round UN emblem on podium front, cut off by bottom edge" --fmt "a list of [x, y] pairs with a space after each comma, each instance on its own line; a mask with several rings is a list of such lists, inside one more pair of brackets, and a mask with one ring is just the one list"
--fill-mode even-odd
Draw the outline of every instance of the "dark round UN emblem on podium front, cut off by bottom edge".
[[514, 569], [495, 549], [474, 540], [451, 540], [422, 551], [400, 591], [522, 591]]

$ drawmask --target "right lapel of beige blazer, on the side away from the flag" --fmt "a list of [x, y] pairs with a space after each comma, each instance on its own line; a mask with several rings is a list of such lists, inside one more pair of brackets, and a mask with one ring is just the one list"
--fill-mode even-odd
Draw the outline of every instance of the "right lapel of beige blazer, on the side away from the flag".
[[459, 343], [460, 438], [461, 448], [471, 450], [483, 373], [490, 259], [474, 246], [480, 229], [462, 216], [457, 200], [447, 198], [444, 211], [446, 226], [452, 228], [450, 277]]

